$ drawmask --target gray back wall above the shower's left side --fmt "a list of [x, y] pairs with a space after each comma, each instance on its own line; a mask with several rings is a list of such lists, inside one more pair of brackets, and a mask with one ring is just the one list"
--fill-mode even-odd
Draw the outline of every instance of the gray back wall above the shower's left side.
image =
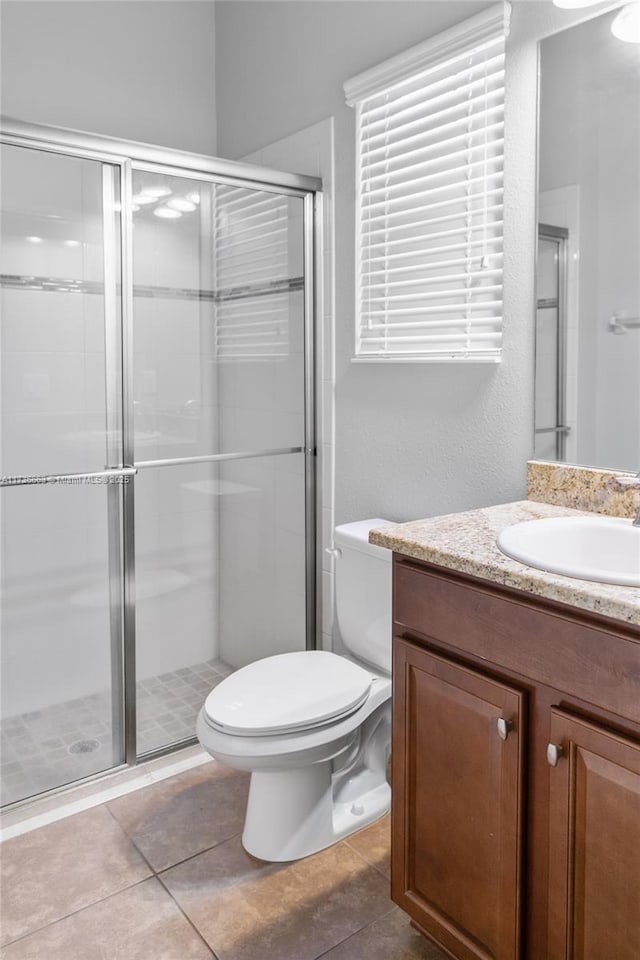
[[3, 0], [2, 113], [215, 153], [214, 9]]

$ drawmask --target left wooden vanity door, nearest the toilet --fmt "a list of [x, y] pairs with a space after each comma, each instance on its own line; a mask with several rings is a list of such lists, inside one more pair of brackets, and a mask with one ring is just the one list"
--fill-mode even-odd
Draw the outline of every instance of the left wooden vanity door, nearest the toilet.
[[524, 694], [403, 640], [393, 669], [392, 897], [458, 960], [515, 960]]

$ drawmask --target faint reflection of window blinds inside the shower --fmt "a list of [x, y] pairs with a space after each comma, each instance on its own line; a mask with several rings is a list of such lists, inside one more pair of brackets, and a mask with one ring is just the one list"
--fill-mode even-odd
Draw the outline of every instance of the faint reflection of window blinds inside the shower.
[[289, 345], [289, 198], [218, 186], [214, 209], [218, 359], [285, 357]]

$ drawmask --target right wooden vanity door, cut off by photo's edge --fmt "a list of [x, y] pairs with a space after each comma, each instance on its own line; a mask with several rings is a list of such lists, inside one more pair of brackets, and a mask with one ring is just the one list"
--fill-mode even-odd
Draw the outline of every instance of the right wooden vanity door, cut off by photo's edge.
[[552, 710], [548, 759], [549, 960], [638, 960], [640, 744]]

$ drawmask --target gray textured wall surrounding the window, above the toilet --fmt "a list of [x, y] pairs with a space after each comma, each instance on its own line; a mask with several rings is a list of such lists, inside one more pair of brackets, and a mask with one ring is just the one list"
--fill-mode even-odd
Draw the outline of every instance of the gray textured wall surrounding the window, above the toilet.
[[[335, 117], [338, 523], [365, 516], [409, 519], [524, 495], [533, 431], [532, 284], [531, 299], [526, 290], [516, 290], [516, 302], [512, 297], [507, 309], [499, 366], [350, 362], [354, 113], [344, 103], [342, 84], [490, 5], [451, 0], [217, 5], [222, 155], [237, 158]], [[535, 86], [531, 96], [535, 107]], [[533, 213], [530, 221], [525, 229], [533, 230]]]

